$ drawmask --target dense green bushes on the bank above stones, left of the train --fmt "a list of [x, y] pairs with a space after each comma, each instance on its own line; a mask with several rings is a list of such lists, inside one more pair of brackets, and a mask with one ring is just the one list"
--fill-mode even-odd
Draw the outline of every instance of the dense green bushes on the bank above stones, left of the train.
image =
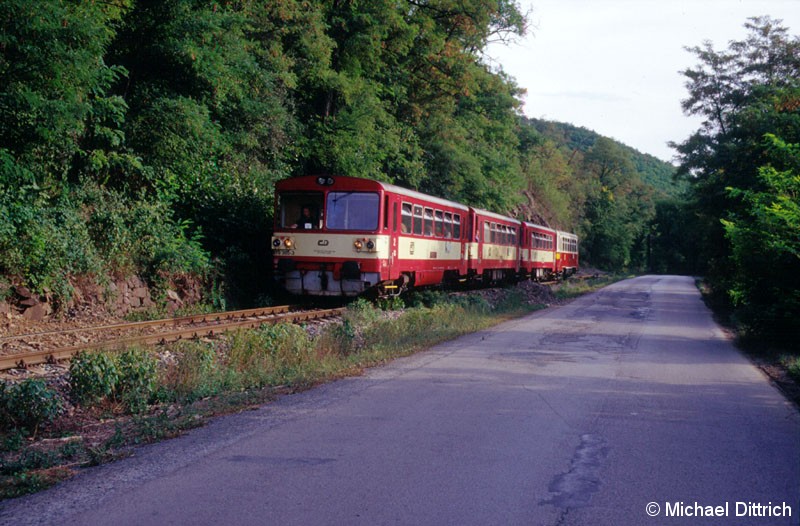
[[167, 203], [89, 181], [48, 190], [8, 173], [4, 179], [1, 170], [0, 274], [25, 277], [68, 300], [70, 276], [138, 272], [157, 280], [210, 268], [199, 231], [173, 220]]

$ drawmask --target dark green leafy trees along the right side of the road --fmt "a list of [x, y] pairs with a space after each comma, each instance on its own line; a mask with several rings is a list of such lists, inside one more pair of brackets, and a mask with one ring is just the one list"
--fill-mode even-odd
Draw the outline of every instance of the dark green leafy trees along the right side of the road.
[[701, 270], [725, 291], [744, 326], [786, 335], [796, 319], [800, 237], [793, 219], [800, 142], [800, 38], [780, 21], [751, 18], [747, 38], [689, 50], [684, 110], [704, 118], [683, 143], [679, 173], [692, 182]]

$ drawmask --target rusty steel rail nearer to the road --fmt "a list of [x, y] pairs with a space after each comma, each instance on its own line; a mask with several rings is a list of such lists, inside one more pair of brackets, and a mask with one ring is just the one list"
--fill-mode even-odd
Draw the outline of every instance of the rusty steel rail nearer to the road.
[[[251, 309], [251, 310], [258, 310], [258, 309]], [[239, 312], [247, 312], [247, 311], [239, 311]], [[154, 333], [142, 336], [119, 338], [115, 340], [108, 340], [102, 342], [72, 345], [69, 347], [61, 347], [58, 349], [48, 349], [44, 351], [34, 351], [29, 353], [5, 355], [5, 356], [0, 356], [0, 370], [25, 368], [31, 365], [39, 365], [43, 363], [55, 363], [58, 360], [65, 360], [67, 358], [70, 358], [75, 353], [84, 350], [100, 350], [100, 349], [110, 350], [135, 344], [140, 344], [140, 345], [163, 344], [183, 339], [210, 337], [235, 329], [256, 328], [264, 324], [274, 324], [281, 321], [299, 322], [299, 321], [308, 321], [321, 318], [330, 318], [333, 316], [338, 316], [342, 312], [344, 312], [343, 308], [306, 311], [306, 312], [280, 313], [269, 318], [264, 317], [259, 319], [223, 322], [215, 325], [208, 325], [205, 327], [189, 327], [183, 330], [172, 331], [167, 333]], [[220, 313], [220, 314], [227, 314], [227, 313]], [[250, 314], [250, 316], [252, 317], [253, 315]], [[262, 316], [267, 316], [267, 314], [262, 314]], [[127, 327], [124, 324], [119, 324], [119, 325], [121, 327]], [[117, 328], [117, 326], [112, 326], [112, 327]], [[57, 333], [57, 331], [53, 332]]]

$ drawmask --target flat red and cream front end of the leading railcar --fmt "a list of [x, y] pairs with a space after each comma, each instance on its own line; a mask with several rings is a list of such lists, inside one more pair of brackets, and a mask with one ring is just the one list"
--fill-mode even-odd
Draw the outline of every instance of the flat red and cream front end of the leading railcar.
[[276, 279], [291, 294], [357, 296], [388, 273], [383, 188], [367, 179], [304, 176], [275, 185]]

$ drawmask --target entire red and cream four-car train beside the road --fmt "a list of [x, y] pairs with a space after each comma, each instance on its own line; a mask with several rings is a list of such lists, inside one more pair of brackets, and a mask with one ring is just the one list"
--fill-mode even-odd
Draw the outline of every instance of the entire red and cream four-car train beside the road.
[[399, 294], [578, 269], [574, 234], [387, 183], [304, 176], [275, 194], [275, 272], [292, 294]]

